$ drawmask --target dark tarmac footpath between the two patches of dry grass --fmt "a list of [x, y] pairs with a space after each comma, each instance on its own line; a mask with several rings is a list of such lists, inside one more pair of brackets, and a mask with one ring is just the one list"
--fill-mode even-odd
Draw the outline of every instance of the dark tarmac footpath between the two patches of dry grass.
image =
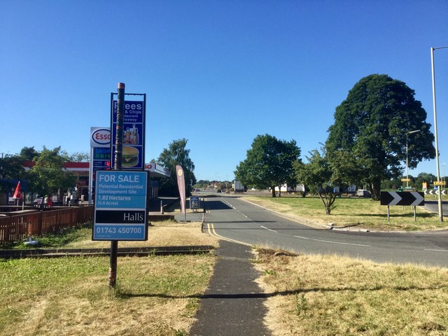
[[190, 336], [268, 336], [263, 324], [267, 295], [255, 283], [251, 246], [220, 241], [209, 288], [202, 295]]

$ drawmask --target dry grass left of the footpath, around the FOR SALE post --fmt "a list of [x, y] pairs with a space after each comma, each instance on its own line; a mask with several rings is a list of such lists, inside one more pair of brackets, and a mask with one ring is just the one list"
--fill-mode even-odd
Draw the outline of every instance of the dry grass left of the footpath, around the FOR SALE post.
[[[217, 244], [200, 223], [157, 223], [149, 237], [119, 247]], [[110, 244], [89, 239], [68, 247]], [[111, 290], [109, 258], [0, 260], [0, 335], [188, 335], [214, 262], [209, 253], [118, 258]]]

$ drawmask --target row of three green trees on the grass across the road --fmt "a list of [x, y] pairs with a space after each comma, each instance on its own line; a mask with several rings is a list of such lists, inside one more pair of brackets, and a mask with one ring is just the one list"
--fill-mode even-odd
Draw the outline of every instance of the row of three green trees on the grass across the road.
[[335, 186], [365, 185], [372, 199], [379, 200], [381, 181], [401, 176], [407, 158], [409, 168], [435, 158], [426, 111], [414, 99], [414, 90], [400, 80], [378, 74], [362, 78], [334, 117], [325, 144], [311, 151], [306, 163], [294, 140], [258, 135], [237, 165], [236, 178], [272, 190], [284, 183], [302, 183], [321, 197], [330, 214]]

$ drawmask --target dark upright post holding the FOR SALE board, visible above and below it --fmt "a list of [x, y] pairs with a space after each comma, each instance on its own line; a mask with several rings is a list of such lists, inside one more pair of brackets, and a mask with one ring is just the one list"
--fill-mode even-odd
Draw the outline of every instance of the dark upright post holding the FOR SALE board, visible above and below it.
[[[121, 170], [123, 156], [123, 115], [125, 107], [125, 83], [118, 83], [117, 126], [114, 170]], [[109, 265], [109, 286], [115, 288], [117, 283], [118, 240], [111, 241], [111, 259]]]

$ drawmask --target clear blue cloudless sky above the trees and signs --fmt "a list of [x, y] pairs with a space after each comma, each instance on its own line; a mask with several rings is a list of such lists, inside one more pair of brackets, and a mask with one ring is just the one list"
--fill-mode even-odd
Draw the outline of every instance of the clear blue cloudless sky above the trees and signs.
[[[306, 160], [372, 73], [407, 83], [434, 124], [430, 47], [448, 45], [446, 0], [0, 4], [0, 153], [90, 151], [118, 82], [147, 94], [146, 162], [186, 138], [197, 179], [232, 179], [258, 134], [295, 139]], [[435, 69], [442, 166], [448, 49]]]

